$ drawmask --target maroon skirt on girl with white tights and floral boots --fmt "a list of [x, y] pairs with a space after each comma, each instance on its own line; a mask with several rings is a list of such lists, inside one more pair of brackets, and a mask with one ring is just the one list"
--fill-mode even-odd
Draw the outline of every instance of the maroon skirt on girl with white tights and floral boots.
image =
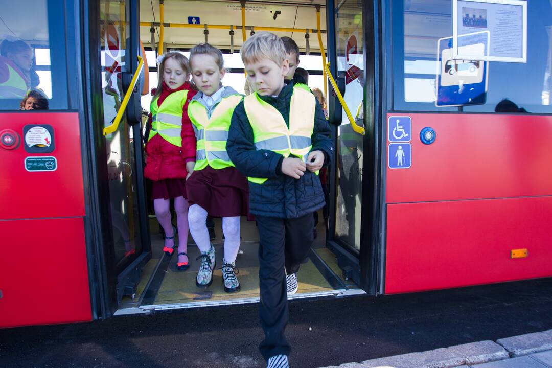
[[247, 216], [249, 185], [235, 167], [215, 170], [207, 166], [194, 171], [186, 182], [188, 202], [200, 205], [213, 217]]

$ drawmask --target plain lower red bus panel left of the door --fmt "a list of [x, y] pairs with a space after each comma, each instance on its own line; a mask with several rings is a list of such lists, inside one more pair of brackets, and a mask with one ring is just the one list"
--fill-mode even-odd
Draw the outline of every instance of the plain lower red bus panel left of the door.
[[83, 218], [0, 221], [0, 327], [91, 321]]

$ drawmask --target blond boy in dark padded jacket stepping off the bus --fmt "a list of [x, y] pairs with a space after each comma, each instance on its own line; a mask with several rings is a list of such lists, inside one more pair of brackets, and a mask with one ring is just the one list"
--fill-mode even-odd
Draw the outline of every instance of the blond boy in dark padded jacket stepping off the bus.
[[259, 314], [265, 334], [259, 349], [268, 367], [283, 368], [291, 350], [284, 336], [286, 274], [299, 270], [312, 244], [312, 212], [325, 204], [317, 171], [330, 162], [333, 146], [315, 96], [284, 83], [289, 61], [282, 40], [259, 32], [240, 53], [256, 92], [234, 110], [226, 151], [248, 177], [250, 211], [259, 228]]

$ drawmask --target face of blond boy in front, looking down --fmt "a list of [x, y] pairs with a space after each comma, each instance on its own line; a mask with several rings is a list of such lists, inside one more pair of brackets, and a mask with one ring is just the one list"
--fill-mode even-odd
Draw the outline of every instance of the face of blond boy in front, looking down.
[[289, 72], [289, 62], [284, 60], [279, 66], [269, 58], [263, 58], [251, 64], [245, 64], [247, 79], [251, 87], [261, 96], [273, 96], [284, 87], [284, 77]]

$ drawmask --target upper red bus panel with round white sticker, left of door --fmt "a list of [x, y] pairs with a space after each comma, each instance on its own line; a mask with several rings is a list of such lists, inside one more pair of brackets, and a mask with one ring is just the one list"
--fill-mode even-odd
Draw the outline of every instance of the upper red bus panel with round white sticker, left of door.
[[[50, 153], [25, 151], [24, 126], [50, 125], [54, 131]], [[20, 137], [13, 150], [0, 147], [0, 220], [14, 218], [84, 216], [81, 136], [77, 113], [0, 114], [0, 131]], [[25, 159], [55, 157], [53, 171], [28, 171]]]

